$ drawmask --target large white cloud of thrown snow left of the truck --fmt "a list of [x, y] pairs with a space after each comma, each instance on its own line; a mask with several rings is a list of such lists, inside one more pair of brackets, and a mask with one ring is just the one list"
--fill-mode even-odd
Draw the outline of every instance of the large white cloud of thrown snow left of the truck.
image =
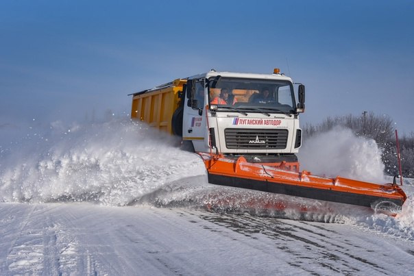
[[25, 131], [2, 142], [0, 202], [126, 205], [170, 181], [206, 175], [202, 160], [180, 151], [175, 138], [129, 119]]

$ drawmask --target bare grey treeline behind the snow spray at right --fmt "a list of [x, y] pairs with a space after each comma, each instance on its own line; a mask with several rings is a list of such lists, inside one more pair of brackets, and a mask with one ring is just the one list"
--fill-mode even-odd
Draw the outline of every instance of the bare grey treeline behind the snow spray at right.
[[[328, 117], [319, 125], [306, 124], [303, 127], [306, 137], [329, 131], [333, 127], [342, 126], [351, 129], [356, 136], [372, 138], [382, 149], [382, 162], [385, 164], [387, 175], [398, 175], [397, 147], [393, 120], [387, 115], [376, 115], [373, 112], [363, 112], [361, 116], [352, 114], [346, 116]], [[409, 136], [400, 137], [400, 156], [403, 177], [414, 177], [414, 132]]]

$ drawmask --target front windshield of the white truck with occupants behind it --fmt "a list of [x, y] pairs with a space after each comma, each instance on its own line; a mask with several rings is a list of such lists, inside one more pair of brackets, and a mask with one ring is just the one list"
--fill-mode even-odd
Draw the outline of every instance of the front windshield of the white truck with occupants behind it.
[[[208, 101], [217, 110], [236, 108], [246, 112], [294, 113], [295, 96], [290, 81], [273, 79], [210, 79]], [[215, 83], [215, 85], [214, 85]], [[213, 85], [212, 85], [213, 84]]]

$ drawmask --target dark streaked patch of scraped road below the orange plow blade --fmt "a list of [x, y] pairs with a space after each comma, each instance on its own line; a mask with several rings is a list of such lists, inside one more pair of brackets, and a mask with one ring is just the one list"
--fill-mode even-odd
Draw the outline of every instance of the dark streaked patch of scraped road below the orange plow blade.
[[[249, 214], [203, 213], [199, 214], [199, 217], [232, 229], [243, 236], [256, 240], [263, 237], [273, 240], [277, 251], [291, 255], [290, 260], [287, 260], [291, 266], [300, 267], [309, 273], [326, 270], [326, 273], [369, 272], [380, 275], [399, 271], [399, 268], [393, 267], [392, 263], [390, 265], [390, 260], [395, 260], [394, 256], [387, 255], [387, 252], [380, 254], [383, 256], [382, 258], [378, 258], [378, 254], [370, 254], [374, 251], [382, 251], [380, 245], [365, 240], [361, 240], [361, 244], [357, 244], [354, 240], [348, 240], [341, 232], [330, 229], [344, 225], [263, 218]], [[217, 229], [211, 231], [217, 231]], [[291, 242], [300, 244], [300, 246], [294, 248], [291, 246]], [[277, 251], [275, 255], [280, 255]], [[410, 260], [401, 262], [402, 271], [404, 269], [409, 271], [407, 263], [409, 264]], [[318, 268], [313, 270], [312, 267], [315, 264]]]

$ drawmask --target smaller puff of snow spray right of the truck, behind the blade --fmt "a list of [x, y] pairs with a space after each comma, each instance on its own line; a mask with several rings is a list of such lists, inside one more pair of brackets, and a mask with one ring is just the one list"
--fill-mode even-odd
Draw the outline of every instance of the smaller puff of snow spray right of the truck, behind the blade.
[[381, 149], [372, 139], [355, 136], [350, 129], [334, 129], [305, 138], [298, 154], [302, 170], [326, 177], [346, 177], [386, 183]]

